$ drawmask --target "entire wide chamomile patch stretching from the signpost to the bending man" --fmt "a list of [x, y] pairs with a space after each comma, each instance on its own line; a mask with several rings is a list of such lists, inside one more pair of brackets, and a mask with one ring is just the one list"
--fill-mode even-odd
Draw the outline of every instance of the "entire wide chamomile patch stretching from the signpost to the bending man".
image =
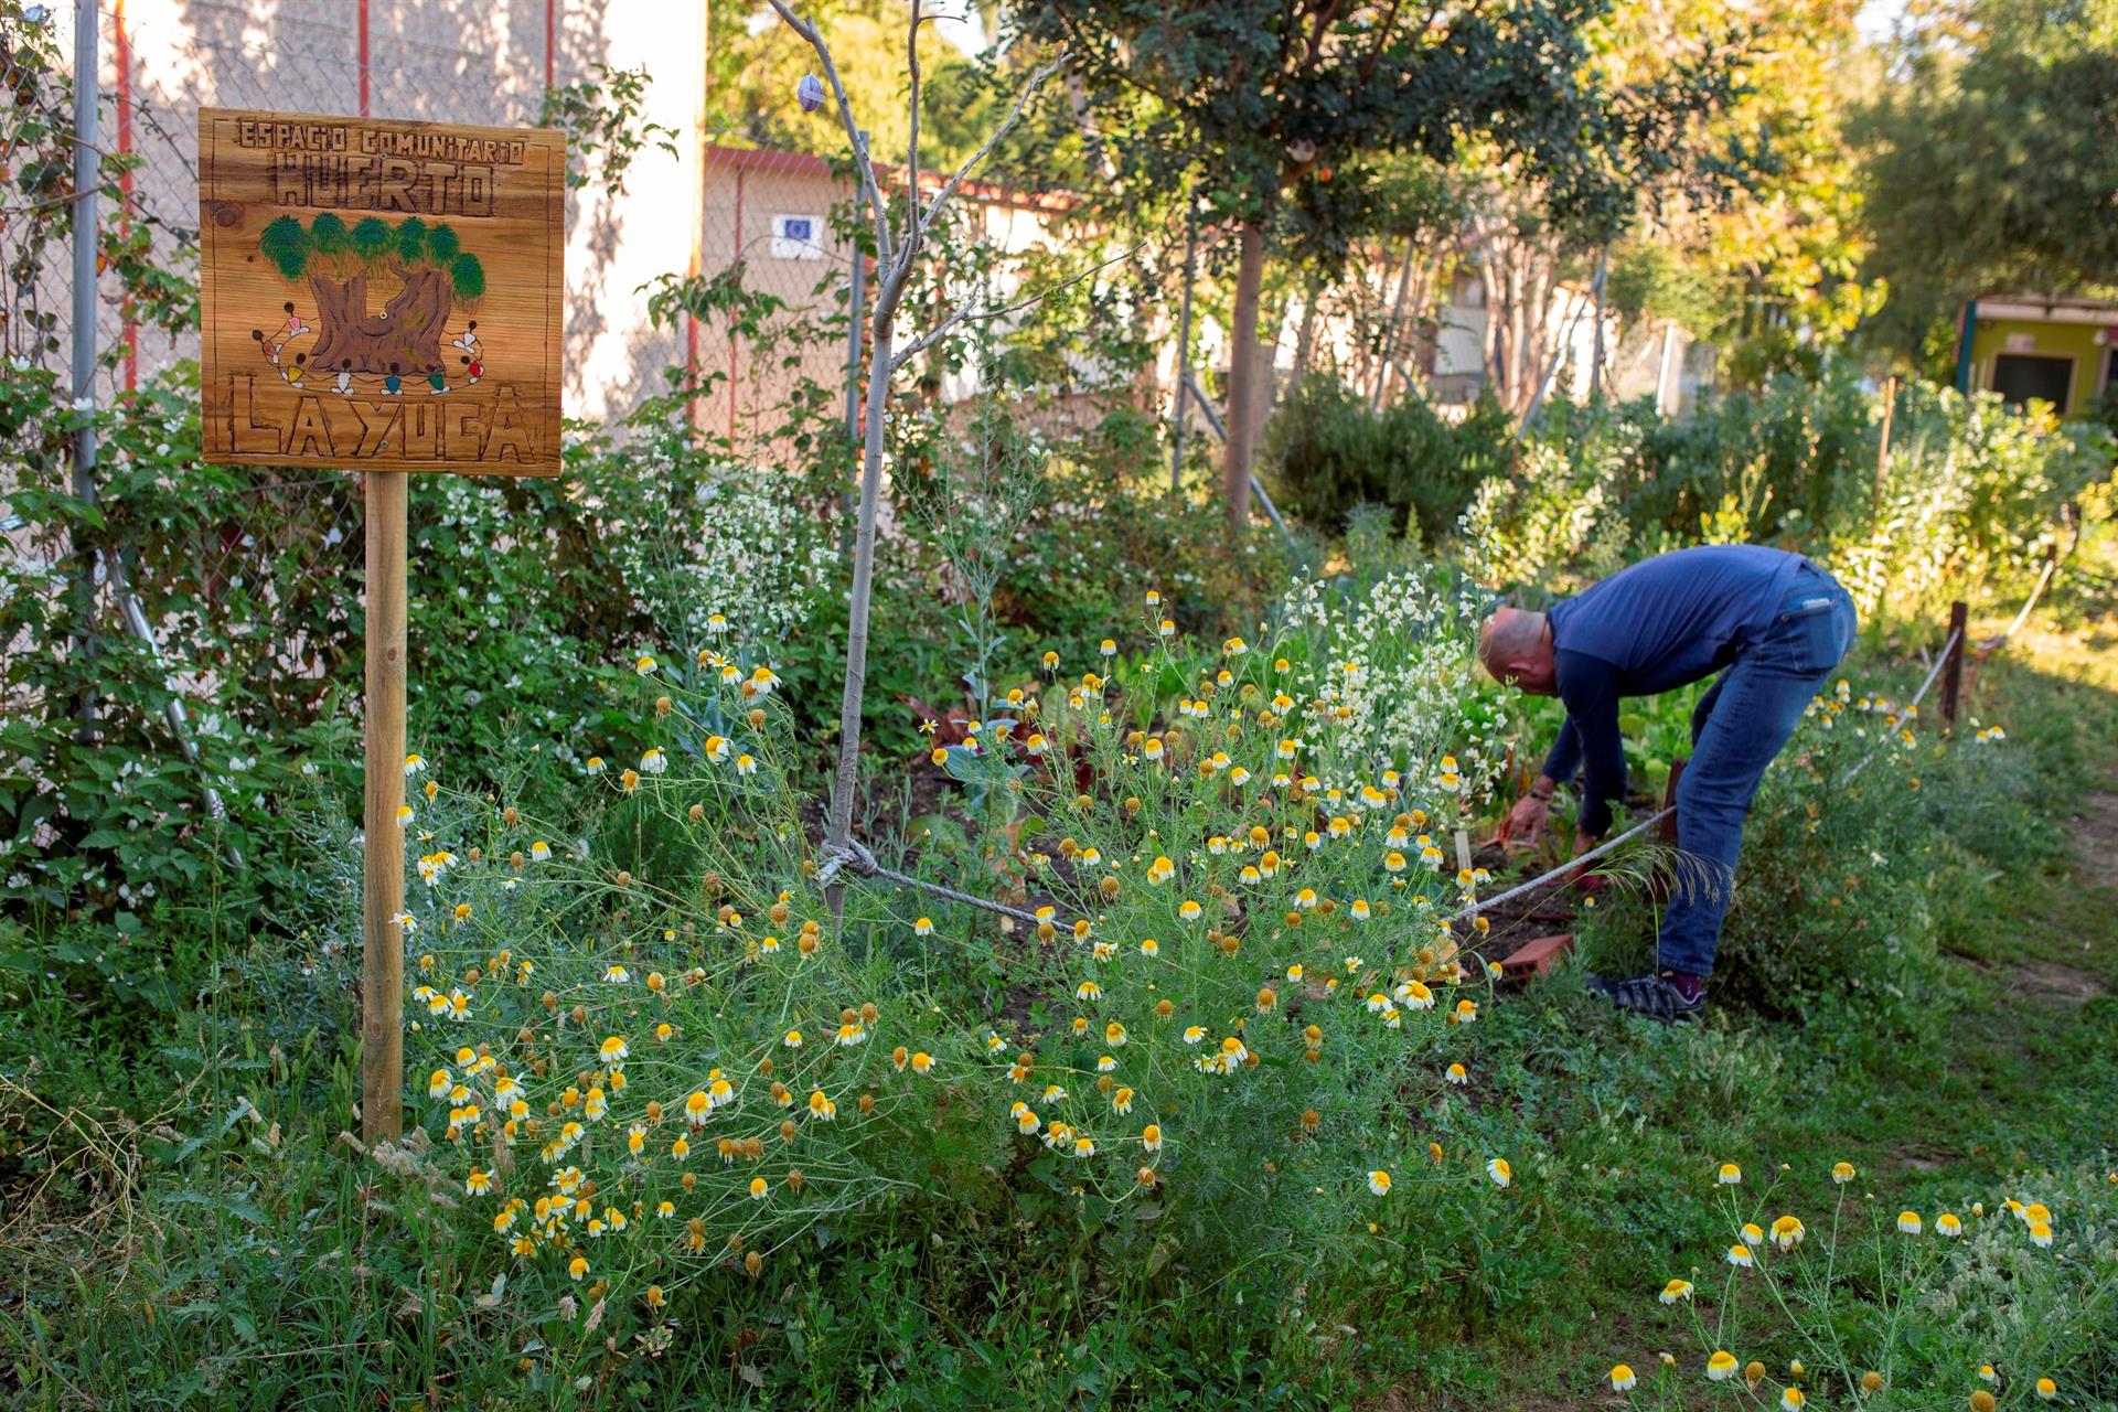
[[561, 1380], [904, 1198], [1010, 1196], [1135, 1281], [1506, 1228], [1508, 1154], [1451, 1116], [1491, 995], [1447, 923], [1487, 883], [1453, 838], [1497, 760], [1476, 608], [1305, 584], [1216, 650], [1154, 595], [1110, 677], [995, 696], [936, 747], [1036, 908], [983, 1008], [926, 986], [974, 912], [854, 881], [832, 917], [754, 658], [633, 663], [654, 743], [585, 760], [572, 823], [413, 756], [390, 1160]]

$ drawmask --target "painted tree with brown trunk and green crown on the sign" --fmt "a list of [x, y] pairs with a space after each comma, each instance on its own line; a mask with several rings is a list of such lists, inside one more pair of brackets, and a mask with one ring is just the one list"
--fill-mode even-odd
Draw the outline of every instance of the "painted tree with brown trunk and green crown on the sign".
[[[472, 311], [485, 294], [485, 267], [455, 229], [417, 216], [394, 227], [375, 216], [347, 227], [330, 212], [307, 227], [277, 216], [258, 235], [258, 250], [288, 279], [307, 277], [316, 296], [309, 366], [333, 373], [441, 373], [449, 309]], [[385, 271], [402, 288], [371, 313], [369, 279]]]

